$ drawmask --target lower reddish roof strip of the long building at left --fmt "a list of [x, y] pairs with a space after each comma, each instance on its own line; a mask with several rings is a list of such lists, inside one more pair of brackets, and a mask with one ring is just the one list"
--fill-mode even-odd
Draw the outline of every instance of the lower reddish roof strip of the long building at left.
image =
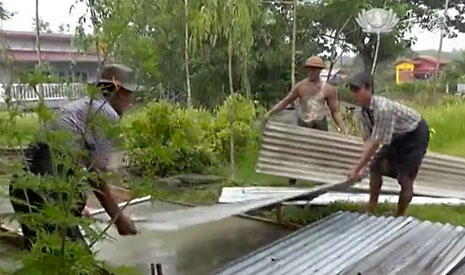
[[[36, 62], [37, 51], [10, 50], [8, 54], [18, 62]], [[96, 54], [77, 52], [41, 52], [41, 58], [48, 62], [98, 62]]]

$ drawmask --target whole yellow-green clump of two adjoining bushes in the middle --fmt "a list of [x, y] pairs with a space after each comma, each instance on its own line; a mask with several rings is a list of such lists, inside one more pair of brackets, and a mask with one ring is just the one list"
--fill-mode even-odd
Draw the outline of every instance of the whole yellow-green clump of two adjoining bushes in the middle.
[[235, 154], [258, 140], [255, 106], [235, 94], [214, 114], [166, 101], [149, 103], [125, 121], [125, 138], [133, 165], [146, 173], [203, 172], [227, 162], [231, 131]]

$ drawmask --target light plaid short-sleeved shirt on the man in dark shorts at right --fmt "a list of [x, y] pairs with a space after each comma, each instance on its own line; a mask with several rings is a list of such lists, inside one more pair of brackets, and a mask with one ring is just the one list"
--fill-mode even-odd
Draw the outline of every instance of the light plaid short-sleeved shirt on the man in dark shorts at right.
[[381, 96], [373, 96], [370, 106], [358, 112], [363, 139], [382, 144], [390, 144], [395, 134], [415, 130], [421, 119], [417, 111]]

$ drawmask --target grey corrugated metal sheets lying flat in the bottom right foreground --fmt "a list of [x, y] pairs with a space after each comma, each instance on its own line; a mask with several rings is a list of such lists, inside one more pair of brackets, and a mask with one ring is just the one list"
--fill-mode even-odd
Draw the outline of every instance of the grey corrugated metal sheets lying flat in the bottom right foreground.
[[463, 227], [340, 212], [216, 274], [463, 274], [464, 257]]

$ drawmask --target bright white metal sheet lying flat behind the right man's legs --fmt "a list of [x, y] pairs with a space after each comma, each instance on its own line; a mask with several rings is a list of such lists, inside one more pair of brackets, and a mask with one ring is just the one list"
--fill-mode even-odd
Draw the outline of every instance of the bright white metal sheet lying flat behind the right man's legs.
[[[223, 187], [221, 190], [219, 203], [238, 203], [250, 200], [258, 200], [272, 197], [277, 194], [291, 194], [301, 192], [302, 188], [292, 187]], [[305, 190], [305, 189], [303, 189]], [[307, 201], [291, 201], [284, 204], [329, 204], [333, 202], [368, 202], [370, 195], [368, 193], [344, 193], [329, 192]], [[379, 202], [397, 203], [397, 195], [380, 195]], [[414, 196], [411, 204], [448, 204], [460, 205], [465, 204], [465, 200], [457, 198], [438, 198], [428, 196]]]

